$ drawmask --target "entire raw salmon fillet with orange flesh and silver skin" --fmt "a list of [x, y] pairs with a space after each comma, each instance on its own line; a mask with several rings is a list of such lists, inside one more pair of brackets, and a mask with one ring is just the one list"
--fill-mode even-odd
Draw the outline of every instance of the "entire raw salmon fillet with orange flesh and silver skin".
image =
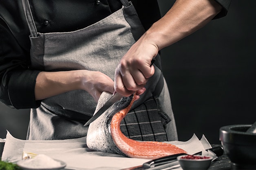
[[136, 141], [129, 139], [121, 132], [120, 123], [130, 111], [134, 95], [121, 98], [105, 111], [106, 114], [103, 113], [90, 124], [86, 138], [87, 146], [92, 150], [143, 159], [157, 159], [167, 155], [186, 153], [185, 150], [172, 144]]

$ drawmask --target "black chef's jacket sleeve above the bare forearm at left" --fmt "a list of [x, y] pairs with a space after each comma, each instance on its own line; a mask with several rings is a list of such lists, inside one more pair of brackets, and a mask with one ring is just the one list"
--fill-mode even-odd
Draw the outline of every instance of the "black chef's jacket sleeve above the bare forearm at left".
[[4, 2], [0, 1], [0, 102], [16, 109], [36, 108], [40, 101], [35, 100], [34, 86], [40, 71], [29, 69], [28, 28], [24, 16], [13, 11], [22, 9], [21, 3]]

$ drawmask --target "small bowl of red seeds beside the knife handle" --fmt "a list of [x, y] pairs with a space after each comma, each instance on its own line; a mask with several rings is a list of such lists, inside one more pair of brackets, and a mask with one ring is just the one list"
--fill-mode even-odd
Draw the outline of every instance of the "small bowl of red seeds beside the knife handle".
[[213, 157], [202, 155], [181, 155], [177, 157], [183, 170], [207, 170]]

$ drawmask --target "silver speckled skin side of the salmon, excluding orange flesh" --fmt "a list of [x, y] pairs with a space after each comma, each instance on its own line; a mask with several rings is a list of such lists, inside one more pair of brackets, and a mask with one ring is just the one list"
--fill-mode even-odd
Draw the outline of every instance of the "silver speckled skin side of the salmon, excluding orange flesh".
[[[103, 92], [99, 98], [99, 101], [104, 100], [104, 102], [106, 102], [107, 99], [111, 97], [111, 95], [112, 94]], [[90, 123], [86, 137], [86, 144], [88, 148], [95, 151], [117, 153], [119, 155], [126, 156], [121, 150], [119, 150], [119, 148], [117, 148], [111, 137], [110, 123], [115, 113], [126, 108], [130, 104], [133, 96], [134, 94], [129, 97], [122, 97], [112, 106], [110, 106], [101, 116], [99, 116], [99, 118]], [[100, 105], [102, 107], [104, 103]], [[95, 110], [95, 113], [98, 109], [100, 109], [100, 107]]]

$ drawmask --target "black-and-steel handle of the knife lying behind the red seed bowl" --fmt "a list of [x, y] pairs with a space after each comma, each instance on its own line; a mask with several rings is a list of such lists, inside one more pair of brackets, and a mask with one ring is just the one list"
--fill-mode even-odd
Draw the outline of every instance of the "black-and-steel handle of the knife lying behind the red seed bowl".
[[[223, 148], [221, 146], [215, 146], [213, 148], [207, 149], [207, 151], [208, 150], [211, 150], [212, 152], [214, 152], [217, 157], [223, 155], [223, 153], [224, 153]], [[202, 154], [202, 152], [198, 152], [198, 153], [195, 153], [194, 155], [201, 155], [201, 154]], [[166, 157], [161, 157], [158, 159], [153, 159], [151, 161], [143, 163], [143, 167], [152, 168], [152, 167], [159, 166], [159, 165], [162, 165], [165, 163], [174, 162], [174, 161], [177, 161], [177, 157], [180, 155], [188, 155], [188, 154], [178, 153], [178, 154], [169, 155]]]

